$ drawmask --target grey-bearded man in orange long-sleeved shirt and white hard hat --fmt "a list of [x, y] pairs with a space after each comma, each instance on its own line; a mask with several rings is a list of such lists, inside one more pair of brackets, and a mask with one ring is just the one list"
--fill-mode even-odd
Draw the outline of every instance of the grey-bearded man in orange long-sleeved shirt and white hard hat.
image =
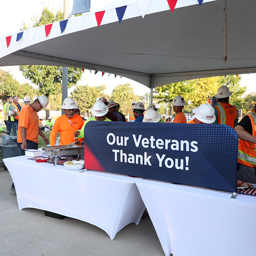
[[[52, 132], [50, 133], [50, 145], [55, 146], [56, 135], [60, 132], [60, 145], [67, 145], [74, 140], [74, 132], [80, 130], [83, 127], [83, 119], [80, 115], [75, 114], [75, 108], [78, 108], [75, 100], [72, 98], [66, 98], [63, 101], [61, 108], [64, 110], [65, 114], [58, 117], [55, 120]], [[80, 142], [83, 139], [79, 139]]]

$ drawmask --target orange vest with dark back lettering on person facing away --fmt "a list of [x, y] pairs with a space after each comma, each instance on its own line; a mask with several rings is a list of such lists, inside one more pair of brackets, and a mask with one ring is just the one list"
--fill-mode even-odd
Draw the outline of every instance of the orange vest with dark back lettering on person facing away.
[[216, 121], [214, 124], [227, 124], [234, 128], [237, 125], [237, 109], [229, 103], [221, 102], [214, 106]]

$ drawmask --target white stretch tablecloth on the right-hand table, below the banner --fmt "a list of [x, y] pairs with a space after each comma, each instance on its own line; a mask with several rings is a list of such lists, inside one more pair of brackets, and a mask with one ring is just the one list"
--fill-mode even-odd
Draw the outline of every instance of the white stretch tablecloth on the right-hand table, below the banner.
[[256, 255], [256, 197], [144, 179], [136, 182], [164, 253]]

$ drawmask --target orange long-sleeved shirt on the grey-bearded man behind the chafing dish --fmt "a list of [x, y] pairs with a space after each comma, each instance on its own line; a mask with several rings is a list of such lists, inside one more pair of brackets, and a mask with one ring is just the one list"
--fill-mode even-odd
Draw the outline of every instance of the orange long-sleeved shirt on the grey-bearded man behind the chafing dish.
[[[56, 135], [58, 132], [60, 132], [60, 145], [67, 145], [75, 142], [74, 132], [76, 130], [81, 130], [82, 127], [83, 119], [80, 115], [74, 114], [72, 118], [69, 118], [63, 114], [62, 116], [58, 117], [54, 123], [52, 132], [50, 133], [50, 145], [55, 146]], [[78, 140], [82, 142], [83, 138]]]

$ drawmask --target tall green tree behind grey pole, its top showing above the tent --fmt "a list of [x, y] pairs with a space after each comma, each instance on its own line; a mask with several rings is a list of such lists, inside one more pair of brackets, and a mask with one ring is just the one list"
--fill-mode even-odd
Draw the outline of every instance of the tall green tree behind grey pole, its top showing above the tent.
[[[34, 16], [32, 19], [32, 27], [46, 25], [55, 21], [63, 20], [63, 13], [58, 11], [53, 13], [53, 9], [48, 6], [43, 7], [41, 17]], [[23, 28], [28, 26], [23, 23]], [[26, 65], [20, 66], [23, 76], [32, 81], [39, 88], [42, 95], [49, 97], [50, 95], [61, 94], [62, 67], [59, 66], [42, 66], [42, 65]], [[76, 85], [81, 79], [82, 69], [68, 68], [68, 88]], [[49, 116], [49, 106], [46, 109], [46, 118]]]

